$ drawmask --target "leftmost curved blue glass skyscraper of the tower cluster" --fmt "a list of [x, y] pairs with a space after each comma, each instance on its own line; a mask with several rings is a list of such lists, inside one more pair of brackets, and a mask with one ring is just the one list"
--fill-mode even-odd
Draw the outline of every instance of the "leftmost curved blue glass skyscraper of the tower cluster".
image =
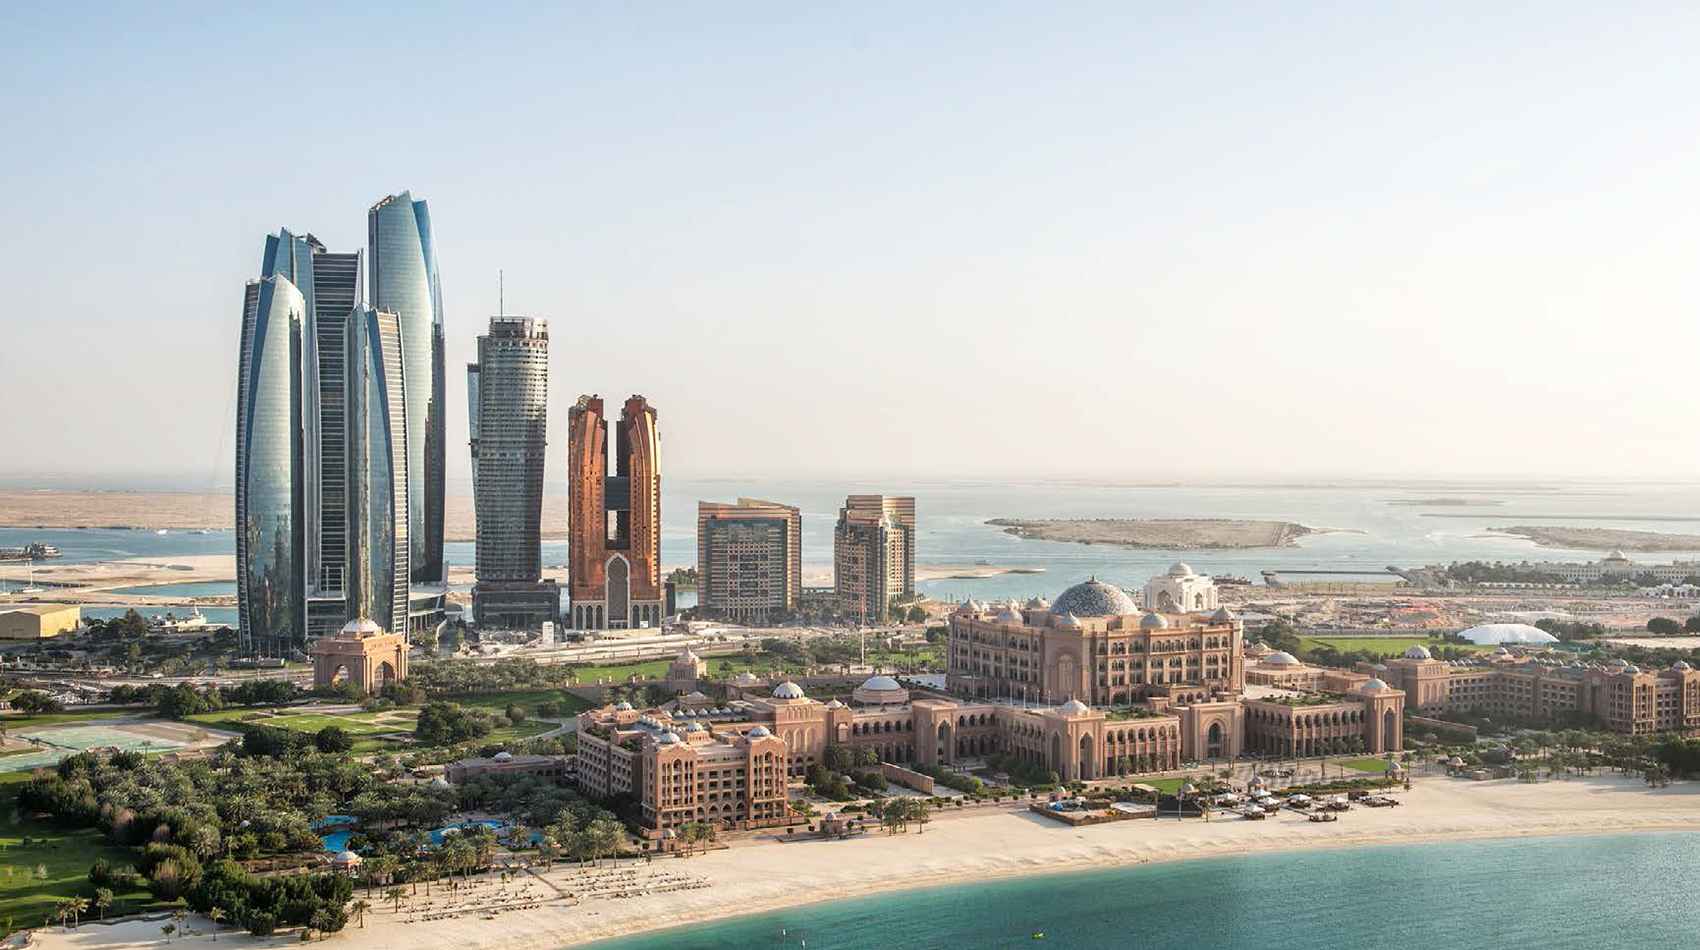
[[236, 369], [236, 608], [253, 653], [304, 639], [303, 325], [308, 303], [284, 274], [250, 280]]

